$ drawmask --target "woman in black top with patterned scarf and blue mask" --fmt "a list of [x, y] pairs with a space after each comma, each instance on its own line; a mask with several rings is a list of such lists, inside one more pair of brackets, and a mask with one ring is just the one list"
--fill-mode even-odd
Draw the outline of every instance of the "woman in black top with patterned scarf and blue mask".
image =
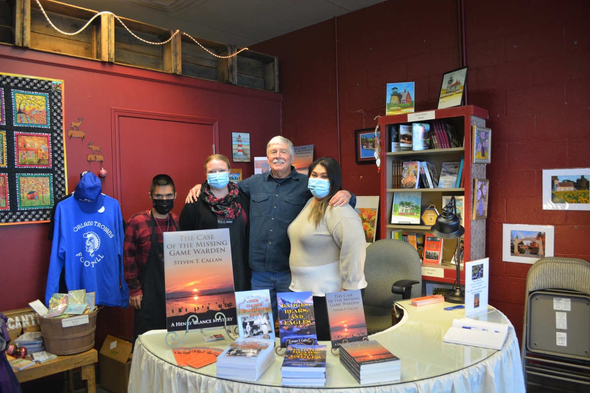
[[231, 260], [235, 290], [250, 290], [248, 264], [248, 214], [250, 198], [230, 181], [230, 160], [213, 154], [205, 160], [201, 195], [195, 203], [182, 208], [180, 230], [230, 229]]

